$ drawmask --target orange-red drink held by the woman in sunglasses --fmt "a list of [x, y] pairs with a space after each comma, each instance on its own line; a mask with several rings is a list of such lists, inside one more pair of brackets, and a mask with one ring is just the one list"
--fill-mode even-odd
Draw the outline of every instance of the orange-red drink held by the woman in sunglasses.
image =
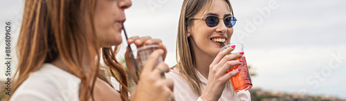
[[[239, 58], [235, 59], [238, 60]], [[230, 69], [228, 69], [227, 73], [230, 71], [233, 71], [237, 69], [238, 67], [241, 69], [239, 73], [232, 78], [230, 78], [230, 81], [232, 82], [233, 89], [235, 91], [246, 91], [248, 89], [251, 89], [253, 87], [253, 84], [251, 83], [251, 77], [250, 73], [248, 73], [248, 65], [246, 64], [245, 57], [241, 58], [243, 60], [242, 64], [239, 64], [237, 66], [233, 66]]]

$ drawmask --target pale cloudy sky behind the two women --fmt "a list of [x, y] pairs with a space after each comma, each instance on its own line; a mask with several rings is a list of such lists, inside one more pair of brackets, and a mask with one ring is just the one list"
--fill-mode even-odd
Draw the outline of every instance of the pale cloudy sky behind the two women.
[[[183, 0], [133, 0], [131, 8], [125, 10], [127, 35], [162, 39], [168, 51], [165, 63], [169, 66], [176, 64], [182, 3]], [[251, 72], [257, 74], [252, 77], [253, 88], [346, 99], [346, 1], [230, 3], [238, 19], [231, 42], [244, 44], [246, 61], [253, 68]], [[13, 22], [12, 44], [17, 40], [22, 5], [22, 0], [0, 3], [0, 28], [5, 28], [5, 21]], [[0, 39], [0, 60], [5, 62], [4, 35]], [[123, 58], [126, 46], [121, 44], [118, 59]], [[3, 80], [6, 68], [0, 67]]]

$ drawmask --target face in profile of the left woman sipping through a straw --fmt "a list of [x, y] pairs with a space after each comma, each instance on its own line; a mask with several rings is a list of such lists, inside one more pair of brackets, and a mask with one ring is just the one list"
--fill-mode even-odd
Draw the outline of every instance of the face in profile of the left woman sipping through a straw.
[[122, 23], [126, 19], [124, 10], [130, 6], [130, 0], [96, 1], [94, 24], [100, 46], [121, 44]]

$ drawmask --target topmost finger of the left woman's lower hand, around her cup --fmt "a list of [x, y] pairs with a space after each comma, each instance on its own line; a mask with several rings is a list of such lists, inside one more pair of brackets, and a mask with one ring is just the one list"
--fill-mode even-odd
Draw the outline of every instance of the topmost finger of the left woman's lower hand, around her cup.
[[152, 52], [147, 58], [147, 62], [144, 64], [142, 73], [151, 73], [151, 71], [154, 69], [154, 66], [156, 65], [158, 57], [161, 57], [162, 55], [162, 49], [154, 50], [154, 52]]

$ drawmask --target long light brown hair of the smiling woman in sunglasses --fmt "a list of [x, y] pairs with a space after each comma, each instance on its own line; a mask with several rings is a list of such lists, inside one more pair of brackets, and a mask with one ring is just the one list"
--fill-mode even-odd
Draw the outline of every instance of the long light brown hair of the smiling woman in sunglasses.
[[[225, 0], [233, 15], [230, 1]], [[179, 17], [178, 35], [176, 38], [176, 59], [177, 64], [172, 68], [178, 68], [181, 75], [188, 81], [191, 88], [201, 95], [201, 80], [197, 76], [196, 62], [190, 39], [187, 36], [188, 27], [192, 26], [192, 19], [201, 10], [209, 10], [214, 0], [184, 0]], [[208, 7], [207, 4], [210, 4]], [[208, 9], [207, 9], [208, 8]], [[234, 16], [234, 15], [233, 15]]]

